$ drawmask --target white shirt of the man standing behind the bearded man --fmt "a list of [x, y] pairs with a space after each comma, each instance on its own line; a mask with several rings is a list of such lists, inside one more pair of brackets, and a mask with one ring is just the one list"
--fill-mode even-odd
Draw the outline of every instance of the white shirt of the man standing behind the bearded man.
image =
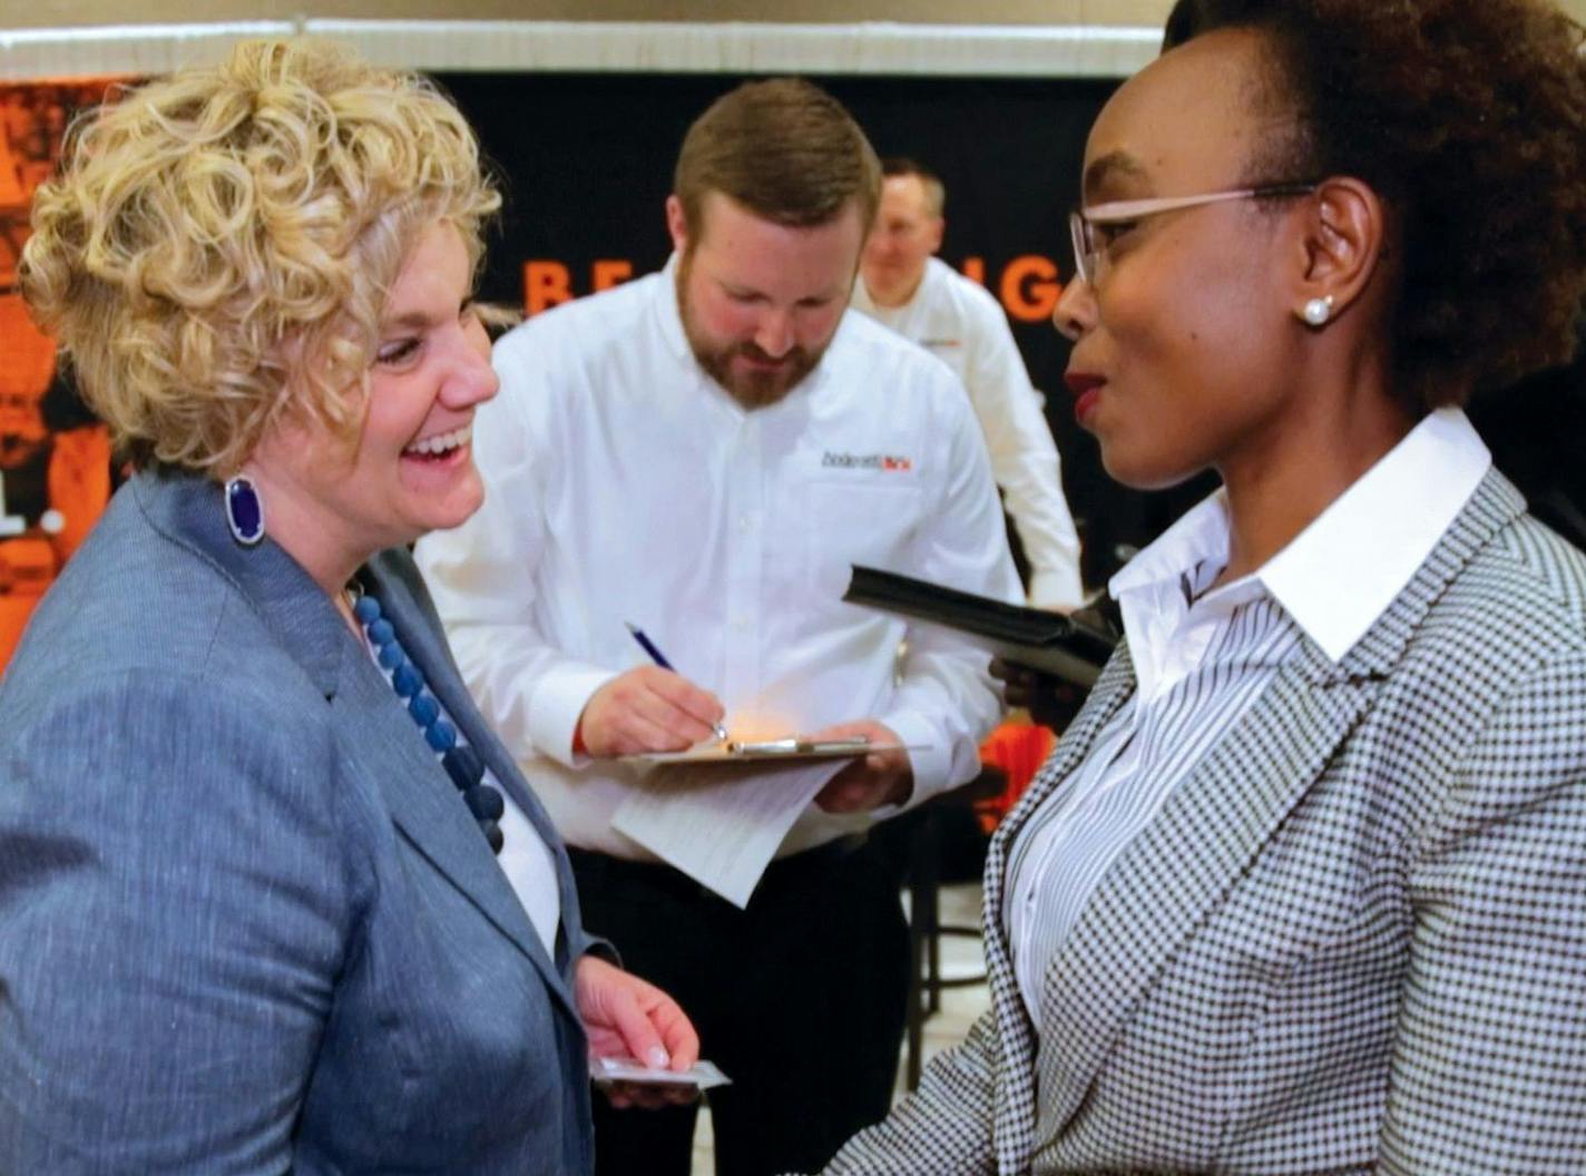
[[1029, 602], [1075, 609], [1080, 585], [1080, 537], [1063, 498], [1063, 472], [1044, 398], [1029, 382], [1007, 315], [985, 287], [940, 258], [926, 258], [914, 296], [902, 306], [877, 306], [861, 276], [853, 309], [890, 326], [940, 358], [963, 382], [991, 453], [991, 474], [1007, 496], [1029, 559]]

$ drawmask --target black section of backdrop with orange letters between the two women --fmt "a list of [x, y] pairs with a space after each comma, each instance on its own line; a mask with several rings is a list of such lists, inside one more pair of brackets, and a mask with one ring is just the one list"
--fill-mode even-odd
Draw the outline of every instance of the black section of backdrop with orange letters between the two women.
[[[669, 252], [663, 204], [688, 124], [742, 78], [723, 74], [441, 74], [479, 128], [508, 189], [484, 295], [544, 309], [658, 269]], [[817, 78], [882, 155], [920, 160], [947, 185], [942, 260], [998, 296], [1063, 455], [1085, 540], [1085, 582], [1101, 585], [1118, 547], [1147, 542], [1210, 479], [1139, 494], [1101, 469], [1063, 385], [1067, 342], [1052, 326], [1074, 269], [1067, 214], [1085, 136], [1115, 82], [964, 78]]]

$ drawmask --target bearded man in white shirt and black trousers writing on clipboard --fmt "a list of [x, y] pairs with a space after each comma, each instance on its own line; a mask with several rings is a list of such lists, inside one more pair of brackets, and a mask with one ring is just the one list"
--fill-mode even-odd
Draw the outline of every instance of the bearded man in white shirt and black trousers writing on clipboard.
[[[999, 712], [983, 653], [842, 604], [850, 564], [1020, 596], [953, 374], [847, 311], [879, 193], [875, 154], [820, 89], [717, 100], [677, 160], [666, 268], [496, 344], [485, 506], [419, 545], [587, 924], [677, 995], [733, 1078], [711, 1094], [722, 1176], [818, 1166], [887, 1113], [907, 937], [864, 834], [974, 777]], [[723, 724], [898, 748], [834, 770], [742, 907], [614, 827], [646, 788], [623, 756]], [[693, 1116], [596, 1111], [598, 1171], [687, 1173]]]

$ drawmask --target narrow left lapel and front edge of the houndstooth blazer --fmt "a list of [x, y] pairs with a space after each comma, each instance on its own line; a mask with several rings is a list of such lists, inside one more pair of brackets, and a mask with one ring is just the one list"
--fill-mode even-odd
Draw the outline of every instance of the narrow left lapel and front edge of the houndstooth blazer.
[[1091, 688], [1085, 707], [1063, 732], [1025, 796], [998, 824], [986, 850], [982, 935], [991, 1008], [1002, 1049], [993, 1106], [993, 1141], [999, 1173], [1021, 1173], [1028, 1168], [1036, 1128], [1036, 1033], [1013, 976], [1013, 956], [1002, 926], [1009, 850], [1029, 815], [1056, 792], [1074, 767], [1090, 754], [1096, 735], [1132, 693], [1134, 662], [1129, 661], [1128, 647], [1120, 643]]

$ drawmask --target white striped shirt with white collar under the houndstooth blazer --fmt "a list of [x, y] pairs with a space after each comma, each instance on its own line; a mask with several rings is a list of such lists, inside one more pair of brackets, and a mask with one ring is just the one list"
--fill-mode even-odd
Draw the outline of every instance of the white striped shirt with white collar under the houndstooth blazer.
[[1047, 967], [1107, 869], [1301, 640], [1337, 662], [1366, 636], [1491, 464], [1465, 415], [1440, 409], [1250, 575], [1207, 591], [1228, 566], [1220, 490], [1112, 578], [1136, 693], [1031, 815], [1007, 864], [1004, 930], [1037, 1030]]

